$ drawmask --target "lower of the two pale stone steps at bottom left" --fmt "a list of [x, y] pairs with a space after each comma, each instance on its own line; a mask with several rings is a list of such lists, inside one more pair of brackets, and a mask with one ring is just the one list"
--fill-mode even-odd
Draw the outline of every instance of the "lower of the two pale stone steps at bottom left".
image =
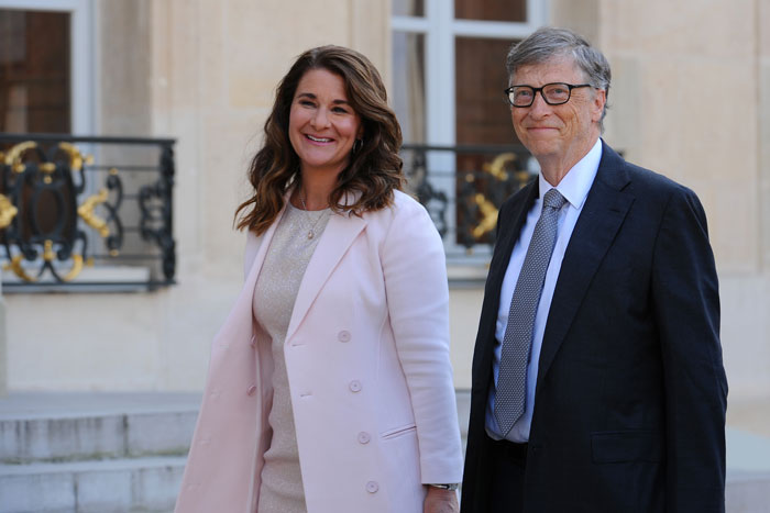
[[0, 513], [167, 513], [185, 457], [0, 465]]

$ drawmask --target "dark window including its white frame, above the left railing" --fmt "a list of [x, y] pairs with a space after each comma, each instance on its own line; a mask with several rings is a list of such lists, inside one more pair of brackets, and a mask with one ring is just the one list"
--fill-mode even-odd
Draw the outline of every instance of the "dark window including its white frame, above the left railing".
[[94, 133], [90, 0], [0, 0], [0, 132]]

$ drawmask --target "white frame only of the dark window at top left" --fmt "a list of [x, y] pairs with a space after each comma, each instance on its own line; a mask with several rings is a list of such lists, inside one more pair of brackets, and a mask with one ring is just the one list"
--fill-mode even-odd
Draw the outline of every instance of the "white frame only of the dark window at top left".
[[68, 12], [70, 55], [70, 132], [92, 135], [95, 123], [95, 1], [0, 0], [0, 9]]

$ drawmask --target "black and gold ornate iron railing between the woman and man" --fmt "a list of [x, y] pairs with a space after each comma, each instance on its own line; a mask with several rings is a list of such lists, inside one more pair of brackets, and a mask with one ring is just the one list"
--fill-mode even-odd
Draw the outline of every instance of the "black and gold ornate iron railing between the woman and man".
[[497, 210], [537, 172], [521, 145], [405, 144], [402, 158], [408, 188], [430, 212], [450, 258], [487, 256]]

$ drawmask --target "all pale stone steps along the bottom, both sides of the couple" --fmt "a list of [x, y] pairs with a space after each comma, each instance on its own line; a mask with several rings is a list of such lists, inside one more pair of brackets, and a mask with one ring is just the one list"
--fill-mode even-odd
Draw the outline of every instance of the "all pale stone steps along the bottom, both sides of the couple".
[[[0, 513], [172, 511], [199, 404], [199, 393], [0, 399]], [[469, 410], [459, 390], [463, 442]], [[728, 428], [726, 442], [727, 512], [770, 513], [770, 438]]]

